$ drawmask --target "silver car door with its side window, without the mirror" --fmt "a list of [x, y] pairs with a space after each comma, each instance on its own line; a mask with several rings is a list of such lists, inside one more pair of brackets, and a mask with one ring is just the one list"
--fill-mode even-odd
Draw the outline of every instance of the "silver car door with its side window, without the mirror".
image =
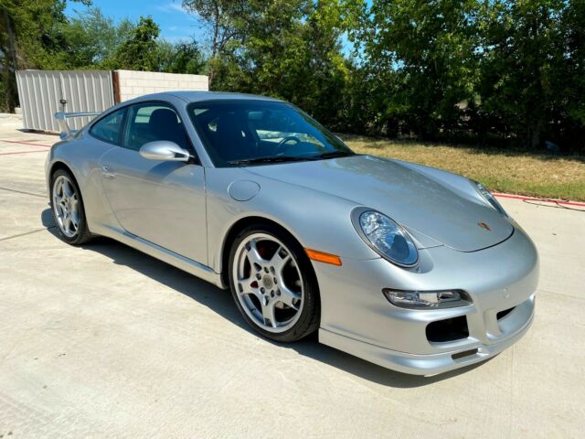
[[101, 156], [106, 198], [124, 230], [207, 265], [205, 169], [140, 155], [142, 145], [156, 140], [175, 142], [195, 155], [170, 104], [130, 106], [122, 146]]

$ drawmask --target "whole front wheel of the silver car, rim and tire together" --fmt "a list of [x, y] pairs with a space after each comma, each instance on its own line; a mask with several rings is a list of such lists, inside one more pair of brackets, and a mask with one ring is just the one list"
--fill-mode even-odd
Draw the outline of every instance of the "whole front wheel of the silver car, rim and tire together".
[[319, 290], [303, 247], [270, 225], [242, 230], [229, 253], [229, 284], [239, 312], [275, 341], [306, 337], [319, 325]]

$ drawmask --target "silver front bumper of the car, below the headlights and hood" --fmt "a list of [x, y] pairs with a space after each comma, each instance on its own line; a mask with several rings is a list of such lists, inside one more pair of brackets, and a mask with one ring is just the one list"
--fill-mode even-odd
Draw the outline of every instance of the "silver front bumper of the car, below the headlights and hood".
[[[381, 259], [344, 259], [341, 268], [314, 264], [322, 301], [319, 340], [388, 369], [434, 375], [495, 356], [514, 344], [534, 316], [538, 257], [520, 229], [479, 252], [441, 246], [420, 252], [418, 268]], [[384, 287], [401, 290], [461, 289], [472, 305], [437, 310], [388, 303]], [[498, 313], [514, 308], [498, 319]], [[463, 317], [466, 337], [431, 341], [432, 322]]]

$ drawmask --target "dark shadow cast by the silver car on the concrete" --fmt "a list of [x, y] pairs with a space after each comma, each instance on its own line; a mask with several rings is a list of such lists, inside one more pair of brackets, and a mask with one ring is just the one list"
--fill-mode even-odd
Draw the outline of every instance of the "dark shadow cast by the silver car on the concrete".
[[[41, 219], [43, 225], [46, 227], [53, 225], [49, 209], [42, 212]], [[55, 227], [48, 228], [48, 231], [58, 237]], [[239, 315], [238, 308], [233, 303], [233, 298], [231, 297], [231, 294], [229, 294], [229, 291], [221, 290], [215, 285], [208, 284], [207, 282], [191, 274], [185, 273], [172, 265], [159, 261], [143, 252], [134, 250], [131, 247], [109, 238], [99, 237], [81, 247], [85, 250], [90, 250], [91, 252], [99, 252], [103, 256], [110, 258], [114, 263], [128, 266], [133, 270], [154, 279], [156, 282], [165, 284], [169, 288], [173, 288], [177, 292], [185, 294], [191, 299], [196, 300], [198, 303], [207, 306], [212, 311], [218, 313], [219, 316], [222, 316], [239, 327], [244, 328], [254, 336], [261, 337], [253, 331]], [[271, 340], [267, 341], [280, 348], [292, 348], [305, 357], [321, 361], [324, 364], [333, 366], [337, 369], [345, 370], [346, 372], [356, 375], [356, 377], [364, 380], [397, 388], [416, 388], [426, 386], [434, 382], [460, 375], [483, 364], [474, 364], [434, 377], [420, 377], [385, 369], [335, 348], [329, 348], [319, 344], [316, 333], [291, 344], [275, 343]]]

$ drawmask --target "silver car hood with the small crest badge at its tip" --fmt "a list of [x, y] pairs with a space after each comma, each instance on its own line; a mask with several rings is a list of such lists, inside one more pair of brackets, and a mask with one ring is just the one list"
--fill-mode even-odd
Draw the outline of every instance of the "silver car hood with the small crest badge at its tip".
[[473, 193], [456, 190], [393, 160], [354, 155], [247, 169], [262, 177], [376, 209], [407, 229], [460, 252], [491, 247], [505, 241], [514, 231], [507, 220], [483, 200], [473, 197]]

